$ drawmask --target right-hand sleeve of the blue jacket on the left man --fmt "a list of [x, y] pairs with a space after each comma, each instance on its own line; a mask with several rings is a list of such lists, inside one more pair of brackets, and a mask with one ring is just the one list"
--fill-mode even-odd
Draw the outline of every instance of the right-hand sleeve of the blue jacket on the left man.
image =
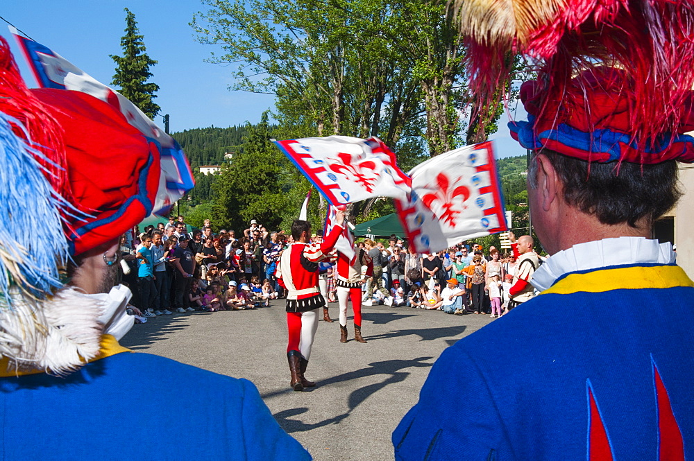
[[[311, 460], [299, 442], [287, 434], [260, 398], [255, 385], [239, 379], [243, 385], [242, 424], [247, 460]], [[230, 427], [237, 426], [230, 423]]]

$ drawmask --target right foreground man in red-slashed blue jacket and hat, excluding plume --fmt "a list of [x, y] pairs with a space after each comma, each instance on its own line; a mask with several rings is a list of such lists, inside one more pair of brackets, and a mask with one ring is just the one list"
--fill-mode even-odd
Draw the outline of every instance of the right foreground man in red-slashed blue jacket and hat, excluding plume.
[[509, 124], [533, 151], [541, 293], [443, 352], [393, 432], [398, 460], [694, 459], [694, 283], [651, 239], [681, 195], [677, 161], [694, 160], [692, 84], [649, 138], [635, 128], [646, 76], [569, 74], [557, 102], [545, 70], [521, 87], [529, 121]]

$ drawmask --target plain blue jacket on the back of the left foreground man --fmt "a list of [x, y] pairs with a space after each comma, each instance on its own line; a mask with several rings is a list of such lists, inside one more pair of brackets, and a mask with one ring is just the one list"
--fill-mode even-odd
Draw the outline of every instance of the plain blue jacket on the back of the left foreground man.
[[4, 460], [311, 459], [253, 383], [150, 354], [3, 377], [0, 408]]

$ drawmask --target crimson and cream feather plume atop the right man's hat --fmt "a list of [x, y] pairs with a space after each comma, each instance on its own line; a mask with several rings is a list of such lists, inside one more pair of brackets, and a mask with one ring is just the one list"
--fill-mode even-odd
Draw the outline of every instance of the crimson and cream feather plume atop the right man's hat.
[[[536, 64], [543, 86], [539, 114], [552, 119], [572, 76], [597, 67], [623, 69], [634, 139], [678, 132], [694, 87], [694, 0], [453, 0], [468, 41], [471, 89], [496, 104], [510, 56]], [[586, 105], [587, 107], [587, 105]]]

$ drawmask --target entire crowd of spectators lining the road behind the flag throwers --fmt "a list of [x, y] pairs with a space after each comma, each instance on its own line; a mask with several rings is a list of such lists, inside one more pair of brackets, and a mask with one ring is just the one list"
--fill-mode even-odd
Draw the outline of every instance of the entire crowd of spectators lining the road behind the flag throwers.
[[[269, 232], [256, 220], [237, 238], [233, 230], [214, 233], [210, 220], [190, 232], [178, 216], [142, 233], [136, 227], [124, 234], [121, 277], [135, 288], [133, 313], [143, 318], [269, 306], [271, 299], [285, 296], [275, 270], [289, 243], [291, 236]], [[501, 254], [495, 247], [484, 252], [468, 241], [417, 254], [397, 236], [391, 236], [387, 246], [369, 238], [358, 245], [373, 263], [373, 277], [362, 286], [366, 306], [409, 306], [490, 318], [509, 311], [517, 254]], [[321, 264], [320, 270], [327, 281], [327, 301], [337, 302], [335, 271], [330, 264]]]

